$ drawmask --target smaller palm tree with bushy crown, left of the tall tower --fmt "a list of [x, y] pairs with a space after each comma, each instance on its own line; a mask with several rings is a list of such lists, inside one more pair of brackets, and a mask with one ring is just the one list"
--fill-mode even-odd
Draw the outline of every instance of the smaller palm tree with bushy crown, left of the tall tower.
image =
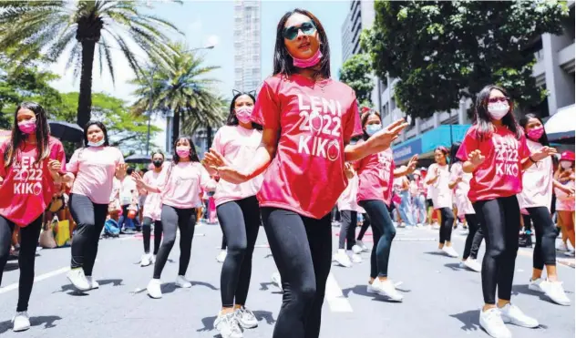
[[[174, 54], [155, 60], [157, 66], [144, 67], [132, 81], [137, 86], [134, 95], [139, 100], [133, 111], [139, 115], [149, 110], [173, 114], [172, 141], [182, 131], [192, 133], [197, 128], [217, 126], [223, 121], [221, 98], [213, 93], [218, 81], [206, 77], [219, 67], [203, 66], [203, 58], [187, 51], [183, 45], [171, 45]], [[150, 91], [152, 91], [150, 93]]]

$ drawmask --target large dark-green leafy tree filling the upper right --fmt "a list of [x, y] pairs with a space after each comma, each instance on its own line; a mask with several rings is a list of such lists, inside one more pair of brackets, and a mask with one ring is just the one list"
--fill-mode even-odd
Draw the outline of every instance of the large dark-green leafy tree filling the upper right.
[[398, 106], [413, 118], [458, 108], [461, 97], [497, 83], [520, 107], [545, 97], [532, 77], [534, 41], [560, 34], [557, 1], [382, 1], [362, 36], [375, 74], [397, 77]]

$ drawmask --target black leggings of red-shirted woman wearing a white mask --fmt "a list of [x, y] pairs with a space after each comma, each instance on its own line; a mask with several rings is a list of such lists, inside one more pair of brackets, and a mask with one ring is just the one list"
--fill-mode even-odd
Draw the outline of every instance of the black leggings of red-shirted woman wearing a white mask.
[[482, 292], [484, 302], [509, 301], [512, 294], [514, 268], [518, 254], [520, 208], [516, 195], [473, 203], [486, 240], [482, 261]]

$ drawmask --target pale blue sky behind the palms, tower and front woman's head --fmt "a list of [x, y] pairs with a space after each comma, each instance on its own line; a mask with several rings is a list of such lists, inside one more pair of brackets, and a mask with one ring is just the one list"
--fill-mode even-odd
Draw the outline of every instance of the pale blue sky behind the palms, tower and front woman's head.
[[[190, 48], [215, 44], [211, 50], [202, 50], [199, 53], [205, 57], [206, 64], [220, 66], [214, 71], [212, 77], [221, 81], [217, 90], [226, 97], [231, 97], [234, 74], [234, 50], [233, 50], [233, 15], [234, 3], [232, 1], [184, 1], [182, 5], [170, 4], [165, 1], [150, 1], [151, 13], [164, 19], [168, 19], [176, 25], [183, 36], [174, 36], [175, 39], [184, 41]], [[344, 23], [349, 1], [262, 1], [262, 77], [267, 77], [273, 69], [273, 46], [275, 29], [282, 15], [300, 7], [314, 13], [328, 35], [331, 47], [332, 73], [337, 77], [338, 69], [342, 65], [341, 27]], [[116, 74], [116, 85], [112, 85], [106, 71], [100, 76], [98, 62], [95, 62], [94, 86], [95, 92], [106, 92], [115, 97], [134, 100], [130, 94], [133, 87], [126, 83], [134, 77], [122, 56], [113, 55]], [[79, 82], [72, 76], [71, 71], [65, 71], [67, 57], [61, 57], [59, 62], [53, 65], [52, 71], [61, 76], [53, 83], [62, 91], [77, 91]], [[263, 79], [263, 78], [262, 78]], [[155, 125], [162, 127], [162, 121], [155, 121]], [[160, 133], [154, 142], [163, 145], [164, 133]]]

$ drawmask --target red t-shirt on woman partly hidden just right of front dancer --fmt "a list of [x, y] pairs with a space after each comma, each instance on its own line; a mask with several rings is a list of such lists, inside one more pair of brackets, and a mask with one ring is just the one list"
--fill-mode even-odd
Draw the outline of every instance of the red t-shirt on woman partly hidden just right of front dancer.
[[356, 200], [383, 200], [389, 207], [396, 168], [392, 149], [366, 156], [355, 167], [359, 179]]

